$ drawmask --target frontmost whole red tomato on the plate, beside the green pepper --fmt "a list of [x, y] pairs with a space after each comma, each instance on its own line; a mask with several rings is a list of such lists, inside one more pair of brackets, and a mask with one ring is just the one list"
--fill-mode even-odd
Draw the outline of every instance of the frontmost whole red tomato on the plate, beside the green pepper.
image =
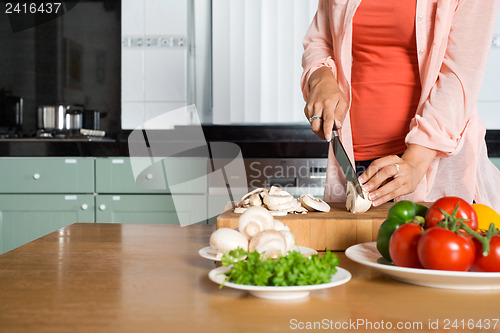
[[417, 252], [424, 268], [468, 271], [474, 263], [476, 248], [469, 236], [434, 227], [422, 234]]

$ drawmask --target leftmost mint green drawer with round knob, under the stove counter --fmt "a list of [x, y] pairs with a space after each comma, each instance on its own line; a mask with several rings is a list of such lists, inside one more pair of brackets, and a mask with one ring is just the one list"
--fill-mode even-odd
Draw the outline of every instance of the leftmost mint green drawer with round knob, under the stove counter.
[[94, 193], [94, 159], [2, 158], [0, 193]]

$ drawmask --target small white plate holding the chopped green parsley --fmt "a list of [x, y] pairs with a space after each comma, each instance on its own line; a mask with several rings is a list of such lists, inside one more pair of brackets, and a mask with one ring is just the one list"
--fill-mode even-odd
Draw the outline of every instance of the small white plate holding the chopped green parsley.
[[[222, 284], [226, 279], [226, 275], [223, 274], [228, 272], [230, 267], [218, 267], [214, 268], [208, 273], [208, 278], [217, 284]], [[337, 267], [337, 273], [332, 276], [332, 279], [328, 283], [323, 284], [312, 284], [308, 286], [291, 286], [291, 287], [261, 287], [261, 286], [248, 286], [244, 284], [237, 284], [232, 282], [226, 282], [224, 288], [234, 288], [240, 290], [247, 290], [251, 295], [260, 298], [267, 299], [296, 299], [309, 296], [311, 290], [319, 290], [332, 288], [339, 286], [341, 284], [347, 283], [351, 279], [351, 273], [349, 271]]]

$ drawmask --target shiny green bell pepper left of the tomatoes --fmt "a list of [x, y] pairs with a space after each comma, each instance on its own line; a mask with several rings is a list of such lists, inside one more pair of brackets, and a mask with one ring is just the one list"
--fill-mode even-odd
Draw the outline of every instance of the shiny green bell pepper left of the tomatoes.
[[392, 261], [389, 254], [389, 241], [394, 230], [408, 222], [415, 220], [423, 221], [427, 207], [412, 201], [399, 201], [395, 203], [387, 213], [387, 219], [378, 229], [377, 250], [387, 260]]

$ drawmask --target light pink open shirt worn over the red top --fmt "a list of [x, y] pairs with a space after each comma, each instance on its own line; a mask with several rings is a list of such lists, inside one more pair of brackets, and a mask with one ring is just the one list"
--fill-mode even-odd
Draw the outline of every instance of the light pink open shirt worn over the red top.
[[[319, 0], [304, 39], [302, 91], [319, 67], [331, 68], [350, 101], [352, 19], [361, 0]], [[415, 192], [398, 200], [459, 196], [500, 212], [500, 172], [489, 161], [477, 114], [499, 0], [417, 0], [416, 39], [422, 95], [406, 143], [439, 151]], [[354, 161], [349, 112], [341, 133]], [[345, 201], [346, 179], [330, 148], [325, 199]]]

